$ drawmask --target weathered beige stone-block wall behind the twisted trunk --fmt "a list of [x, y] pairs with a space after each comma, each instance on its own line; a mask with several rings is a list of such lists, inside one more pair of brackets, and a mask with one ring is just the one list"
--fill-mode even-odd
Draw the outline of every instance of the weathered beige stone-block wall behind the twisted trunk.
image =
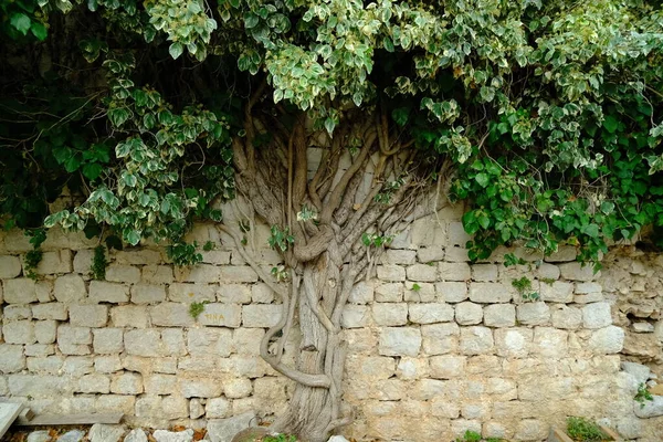
[[[502, 264], [506, 251], [471, 264], [461, 214], [418, 221], [352, 292], [344, 398], [355, 423], [344, 433], [449, 441], [469, 429], [541, 441], [550, 424], [583, 415], [660, 441], [663, 418], [634, 414], [641, 379], [622, 362], [650, 364], [644, 380], [663, 376], [663, 259], [620, 250], [597, 275], [572, 249], [546, 260], [516, 251], [529, 262], [519, 267]], [[278, 256], [266, 229], [254, 232], [253, 254], [271, 269]], [[120, 411], [151, 427], [246, 411], [269, 420], [283, 409], [292, 383], [257, 356], [281, 306], [213, 225], [191, 238], [217, 245], [196, 267], [172, 266], [158, 248], [127, 249], [109, 254], [106, 281], [91, 281], [96, 241], [51, 232], [33, 281], [27, 239], [3, 234], [0, 396], [44, 413]], [[512, 286], [522, 276], [541, 301], [522, 299]], [[189, 304], [203, 301], [194, 319]]]

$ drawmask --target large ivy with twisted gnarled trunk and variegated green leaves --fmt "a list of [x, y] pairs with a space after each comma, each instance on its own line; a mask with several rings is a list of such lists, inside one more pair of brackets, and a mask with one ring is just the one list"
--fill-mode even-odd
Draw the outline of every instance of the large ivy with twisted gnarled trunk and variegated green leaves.
[[[349, 422], [350, 291], [390, 238], [449, 199], [467, 201], [472, 260], [572, 244], [598, 267], [611, 241], [650, 231], [659, 244], [657, 2], [1, 6], [7, 224], [152, 238], [188, 265], [191, 221], [218, 221], [283, 301], [261, 345], [297, 382], [278, 431], [323, 441]], [[311, 148], [323, 155], [309, 176]], [[49, 213], [65, 185], [81, 203]], [[273, 275], [243, 251], [248, 227], [222, 222], [217, 203], [236, 193], [271, 225], [285, 263]]]

